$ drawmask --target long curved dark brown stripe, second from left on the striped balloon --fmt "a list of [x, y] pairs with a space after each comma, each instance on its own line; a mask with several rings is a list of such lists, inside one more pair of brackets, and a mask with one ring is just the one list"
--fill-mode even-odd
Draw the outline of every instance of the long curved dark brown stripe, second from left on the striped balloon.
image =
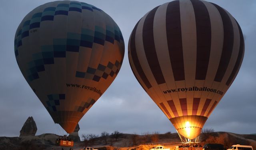
[[143, 24], [143, 45], [144, 51], [146, 54], [146, 58], [148, 61], [148, 65], [150, 66], [150, 70], [154, 75], [154, 78], [157, 84], [165, 83], [164, 76], [162, 74], [162, 70], [160, 68], [160, 64], [156, 55], [156, 48], [154, 44], [154, 33], [153, 33], [153, 24], [154, 24], [154, 16], [156, 14], [156, 10], [159, 6], [151, 10], [145, 18]]

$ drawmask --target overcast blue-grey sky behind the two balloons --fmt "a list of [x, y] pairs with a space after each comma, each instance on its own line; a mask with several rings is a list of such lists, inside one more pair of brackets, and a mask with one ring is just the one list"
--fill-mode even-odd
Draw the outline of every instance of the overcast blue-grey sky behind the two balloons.
[[[44, 108], [22, 76], [14, 55], [14, 35], [21, 20], [37, 6], [51, 0], [0, 0], [0, 136], [19, 136], [29, 116], [43, 133], [66, 134]], [[109, 14], [118, 24], [125, 42], [122, 68], [101, 98], [80, 120], [79, 135], [143, 132], [176, 132], [132, 74], [128, 63], [128, 40], [138, 20], [168, 0], [80, 0]], [[228, 10], [245, 37], [245, 54], [235, 81], [204, 125], [215, 131], [256, 133], [256, 1], [207, 0]], [[157, 122], [157, 123], [155, 123]]]

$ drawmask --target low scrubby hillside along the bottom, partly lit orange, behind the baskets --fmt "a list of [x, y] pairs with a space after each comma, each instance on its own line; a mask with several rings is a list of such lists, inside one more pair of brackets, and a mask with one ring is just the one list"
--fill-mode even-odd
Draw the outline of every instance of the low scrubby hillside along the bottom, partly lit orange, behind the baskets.
[[[19, 137], [0, 137], [0, 150], [61, 150], [61, 147], [54, 146], [56, 134], [42, 134], [39, 136]], [[83, 138], [81, 138], [82, 140]], [[256, 135], [253, 134], [234, 134], [230, 132], [212, 132], [200, 136], [202, 145], [206, 143], [224, 144], [229, 148], [233, 144], [252, 145], [256, 149]], [[148, 150], [148, 148], [161, 144], [169, 147], [171, 150], [174, 146], [180, 144], [177, 133], [166, 134], [120, 134], [115, 137], [105, 136], [86, 140], [86, 142], [75, 142], [74, 150], [80, 150], [85, 145], [98, 148], [99, 150]], [[64, 148], [69, 150], [69, 148]]]

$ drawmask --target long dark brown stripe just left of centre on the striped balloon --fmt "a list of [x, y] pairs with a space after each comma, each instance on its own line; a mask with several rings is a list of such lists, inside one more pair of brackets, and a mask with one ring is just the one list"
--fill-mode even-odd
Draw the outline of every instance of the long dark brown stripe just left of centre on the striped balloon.
[[172, 1], [166, 10], [166, 36], [175, 81], [185, 80], [180, 25], [180, 2]]

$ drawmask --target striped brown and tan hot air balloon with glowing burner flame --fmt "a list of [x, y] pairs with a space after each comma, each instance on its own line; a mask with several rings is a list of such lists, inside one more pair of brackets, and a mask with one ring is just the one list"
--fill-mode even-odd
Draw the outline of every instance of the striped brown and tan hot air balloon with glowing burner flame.
[[203, 0], [175, 0], [150, 10], [134, 27], [128, 45], [136, 79], [182, 142], [198, 141], [243, 56], [238, 22]]

